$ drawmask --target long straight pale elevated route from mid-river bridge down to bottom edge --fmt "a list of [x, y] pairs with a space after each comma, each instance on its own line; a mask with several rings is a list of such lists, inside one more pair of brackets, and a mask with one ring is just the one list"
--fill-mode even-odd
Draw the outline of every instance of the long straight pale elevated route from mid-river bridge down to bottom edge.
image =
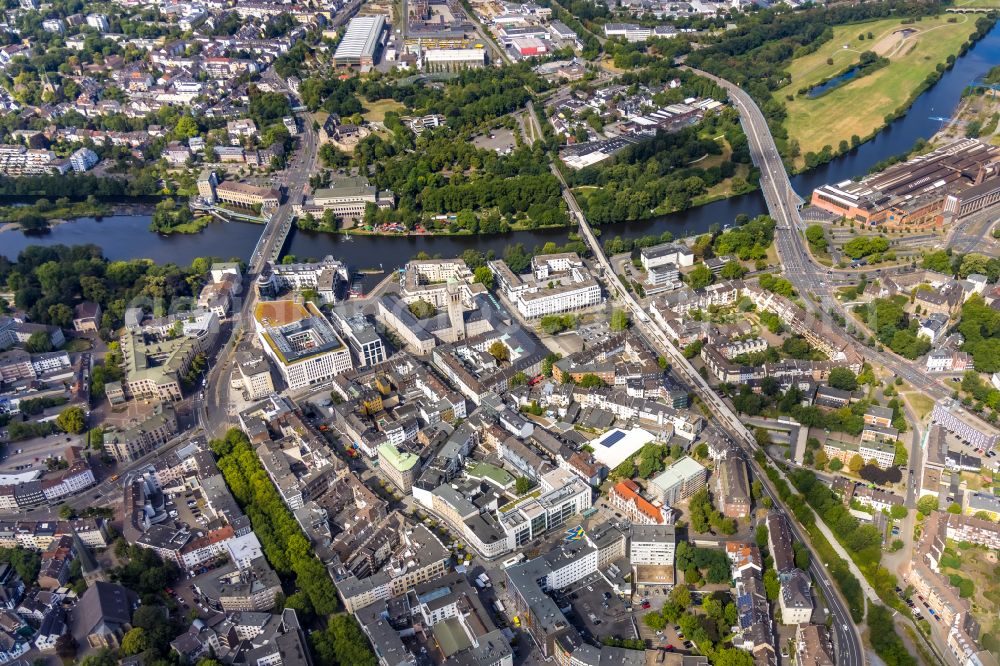
[[[734, 441], [740, 446], [743, 459], [754, 471], [754, 475], [761, 480], [764, 492], [770, 497], [774, 506], [784, 507], [784, 503], [781, 501], [781, 498], [778, 497], [777, 493], [771, 487], [771, 483], [767, 478], [767, 475], [764, 474], [760, 465], [757, 464], [757, 461], [752, 455], [754, 449], [756, 448], [756, 440], [753, 435], [740, 421], [739, 417], [733, 412], [733, 410], [715, 393], [715, 391], [712, 390], [712, 388], [708, 385], [708, 382], [705, 381], [705, 378], [702, 377], [688, 362], [684, 355], [670, 343], [663, 331], [661, 331], [658, 326], [653, 324], [649, 315], [646, 314], [638, 301], [633, 298], [632, 294], [630, 294], [628, 290], [622, 286], [621, 282], [615, 275], [611, 263], [604, 254], [604, 250], [598, 242], [597, 237], [594, 235], [590, 224], [587, 222], [587, 218], [584, 217], [583, 211], [580, 209], [580, 206], [576, 201], [576, 197], [573, 196], [573, 192], [566, 184], [562, 173], [560, 173], [555, 166], [552, 167], [552, 172], [562, 184], [563, 198], [566, 200], [570, 213], [576, 218], [580, 225], [580, 231], [584, 241], [594, 254], [594, 258], [598, 264], [599, 273], [605, 278], [605, 283], [631, 314], [636, 329], [658, 353], [663, 354], [666, 358], [670, 359], [674, 371], [677, 372], [689, 386], [694, 388], [698, 397], [709, 409], [711, 409], [713, 415], [718, 419], [716, 427], [725, 431], [731, 438], [731, 441]], [[785, 510], [788, 511], [788, 508], [785, 507]], [[795, 539], [808, 544], [809, 542], [805, 539], [795, 522], [789, 521], [789, 523], [792, 525], [792, 531]], [[820, 587], [823, 589], [827, 606], [834, 619], [834, 627], [836, 629], [835, 636], [837, 637], [837, 663], [842, 666], [862, 666], [865, 663], [865, 655], [862, 649], [861, 636], [851, 619], [851, 614], [847, 609], [847, 604], [843, 597], [841, 597], [839, 591], [834, 589], [825, 568], [820, 563], [819, 557], [813, 554], [811, 561], [812, 564], [810, 565], [810, 571], [815, 580], [818, 581]]]

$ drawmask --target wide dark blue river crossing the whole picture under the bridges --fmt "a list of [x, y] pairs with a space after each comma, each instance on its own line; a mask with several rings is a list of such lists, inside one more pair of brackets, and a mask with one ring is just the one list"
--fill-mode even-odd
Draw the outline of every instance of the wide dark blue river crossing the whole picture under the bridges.
[[[930, 137], [941, 127], [941, 122], [932, 118], [951, 116], [962, 90], [998, 62], [1000, 24], [959, 58], [934, 87], [918, 97], [905, 116], [847, 155], [795, 176], [792, 186], [803, 198], [808, 198], [816, 187], [864, 175], [877, 162], [908, 150], [919, 138]], [[740, 213], [752, 217], [764, 212], [763, 197], [760, 192], [752, 192], [650, 220], [605, 226], [602, 232], [605, 238], [616, 235], [634, 238], [664, 231], [682, 236], [704, 232], [713, 224], [729, 224]], [[75, 220], [42, 236], [8, 231], [0, 233], [0, 255], [14, 258], [29, 245], [94, 243], [103, 248], [109, 259], [149, 258], [158, 263], [187, 264], [199, 256], [248, 258], [262, 231], [260, 225], [220, 222], [210, 224], [199, 234], [160, 236], [151, 233], [148, 227], [148, 216], [121, 215], [100, 221]], [[568, 230], [557, 229], [497, 236], [345, 238], [293, 229], [285, 251], [300, 259], [332, 254], [355, 268], [382, 266], [389, 269], [402, 266], [420, 251], [431, 256], [456, 256], [475, 248], [500, 254], [511, 243], [523, 243], [528, 249], [549, 241], [564, 243], [567, 234]]]

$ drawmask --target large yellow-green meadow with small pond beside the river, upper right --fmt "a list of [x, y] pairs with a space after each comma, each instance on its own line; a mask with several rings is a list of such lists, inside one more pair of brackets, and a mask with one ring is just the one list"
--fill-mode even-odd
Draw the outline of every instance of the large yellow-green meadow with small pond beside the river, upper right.
[[[992, 1], [992, 0], [991, 0]], [[1000, 0], [996, 0], [1000, 2]], [[834, 37], [815, 53], [796, 58], [788, 67], [791, 83], [777, 90], [777, 99], [788, 109], [788, 135], [799, 142], [802, 155], [819, 152], [823, 146], [837, 149], [852, 135], [865, 138], [881, 129], [886, 115], [910, 99], [927, 75], [975, 31], [978, 14], [945, 14], [939, 18], [904, 25], [885, 19], [834, 28]], [[955, 23], [948, 23], [955, 19]], [[904, 37], [899, 31], [917, 32]], [[872, 39], [859, 40], [872, 33]], [[797, 95], [858, 62], [861, 53], [874, 51], [889, 59], [889, 65], [809, 99]], [[828, 65], [827, 60], [833, 64]], [[788, 101], [788, 95], [794, 96]], [[802, 157], [797, 166], [802, 166]]]

